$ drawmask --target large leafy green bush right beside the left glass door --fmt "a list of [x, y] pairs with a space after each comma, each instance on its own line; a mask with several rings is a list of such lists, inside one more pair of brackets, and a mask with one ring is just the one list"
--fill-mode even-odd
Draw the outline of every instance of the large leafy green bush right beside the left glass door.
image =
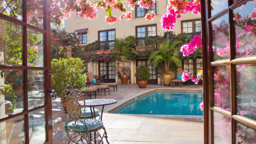
[[78, 84], [82, 88], [87, 78], [82, 72], [84, 67], [80, 58], [52, 59], [52, 89], [56, 95], [60, 97], [67, 85]]

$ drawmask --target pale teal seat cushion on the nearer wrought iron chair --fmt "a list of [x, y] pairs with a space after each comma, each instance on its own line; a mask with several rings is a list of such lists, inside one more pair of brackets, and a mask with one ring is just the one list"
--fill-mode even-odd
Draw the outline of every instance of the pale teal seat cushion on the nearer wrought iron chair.
[[[67, 127], [70, 130], [84, 132], [84, 131], [86, 131], [86, 128], [82, 121], [84, 122], [84, 120], [77, 120], [76, 124], [75, 124], [75, 121], [72, 121], [67, 124]], [[85, 123], [86, 123], [86, 127], [87, 127], [88, 131], [95, 130], [96, 128], [103, 126], [103, 122], [96, 120], [96, 119], [86, 119]]]

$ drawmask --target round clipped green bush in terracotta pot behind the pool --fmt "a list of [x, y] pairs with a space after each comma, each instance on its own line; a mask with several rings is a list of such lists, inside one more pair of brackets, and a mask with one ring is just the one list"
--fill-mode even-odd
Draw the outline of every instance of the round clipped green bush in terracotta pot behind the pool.
[[141, 65], [136, 68], [135, 77], [138, 81], [148, 81], [150, 78], [149, 69], [145, 65]]

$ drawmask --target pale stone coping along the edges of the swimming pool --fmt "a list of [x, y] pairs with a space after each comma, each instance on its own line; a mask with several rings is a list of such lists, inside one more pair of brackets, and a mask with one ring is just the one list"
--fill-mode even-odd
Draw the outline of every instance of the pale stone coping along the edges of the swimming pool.
[[[136, 95], [134, 95], [132, 98], [123, 98], [122, 100], [118, 101], [116, 104], [112, 105], [112, 107], [107, 108], [107, 112], [113, 113], [117, 109], [123, 107], [124, 105], [134, 101], [137, 98], [143, 97], [144, 95], [147, 95], [151, 92], [203, 92], [203, 89], [168, 89], [168, 88], [156, 88], [156, 89], [148, 89], [143, 92], [139, 92]], [[111, 109], [112, 108], [112, 109]], [[138, 114], [126, 114], [126, 115], [137, 115], [137, 116], [147, 116], [147, 117], [153, 117], [153, 118], [203, 118], [203, 115], [138, 115]]]

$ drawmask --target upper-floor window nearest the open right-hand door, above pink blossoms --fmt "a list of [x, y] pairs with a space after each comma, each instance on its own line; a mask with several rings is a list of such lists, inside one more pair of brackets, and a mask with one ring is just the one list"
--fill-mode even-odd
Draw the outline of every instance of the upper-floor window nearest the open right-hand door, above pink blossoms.
[[189, 20], [181, 22], [183, 33], [201, 32], [201, 20]]

